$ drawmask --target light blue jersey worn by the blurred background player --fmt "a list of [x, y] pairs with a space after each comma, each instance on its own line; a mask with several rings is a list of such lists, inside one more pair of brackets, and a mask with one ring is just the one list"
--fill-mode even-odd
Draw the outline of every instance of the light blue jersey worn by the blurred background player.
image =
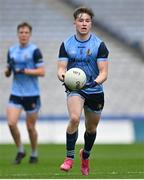
[[[9, 48], [8, 65], [11, 62], [15, 70], [25, 68], [35, 69], [44, 65], [40, 50], [32, 43], [29, 43], [26, 47], [21, 47], [17, 44]], [[11, 94], [24, 97], [40, 95], [38, 77], [13, 73]]]

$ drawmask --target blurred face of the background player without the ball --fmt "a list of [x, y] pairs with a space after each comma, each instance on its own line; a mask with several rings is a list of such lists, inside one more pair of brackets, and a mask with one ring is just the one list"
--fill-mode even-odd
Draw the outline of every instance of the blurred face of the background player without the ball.
[[31, 37], [31, 32], [28, 27], [21, 27], [18, 30], [18, 39], [19, 39], [19, 43], [22, 46], [25, 46], [28, 44], [30, 37]]

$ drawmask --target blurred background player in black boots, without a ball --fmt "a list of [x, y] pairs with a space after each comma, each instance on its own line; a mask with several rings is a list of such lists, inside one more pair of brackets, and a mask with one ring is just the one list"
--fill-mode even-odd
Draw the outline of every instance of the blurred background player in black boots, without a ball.
[[26, 112], [26, 126], [32, 152], [29, 163], [38, 161], [37, 131], [35, 128], [40, 109], [40, 89], [38, 77], [44, 76], [44, 62], [40, 49], [30, 42], [32, 27], [23, 22], [17, 27], [19, 43], [8, 50], [6, 77], [13, 75], [11, 95], [7, 107], [8, 126], [18, 152], [14, 163], [20, 164], [26, 152], [23, 147], [17, 122], [22, 110]]

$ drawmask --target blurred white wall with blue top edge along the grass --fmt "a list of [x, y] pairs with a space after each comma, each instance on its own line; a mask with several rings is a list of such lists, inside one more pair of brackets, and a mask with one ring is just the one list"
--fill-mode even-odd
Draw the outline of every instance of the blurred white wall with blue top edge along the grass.
[[[65, 129], [68, 117], [47, 116], [40, 117], [37, 122], [37, 130], [40, 143], [65, 143]], [[24, 143], [28, 143], [28, 133], [24, 118], [20, 120], [19, 128]], [[106, 116], [99, 123], [96, 143], [135, 143], [144, 141], [143, 117]], [[83, 143], [84, 119], [81, 118], [79, 126], [79, 138], [77, 143]], [[0, 119], [0, 143], [13, 143], [5, 119]]]

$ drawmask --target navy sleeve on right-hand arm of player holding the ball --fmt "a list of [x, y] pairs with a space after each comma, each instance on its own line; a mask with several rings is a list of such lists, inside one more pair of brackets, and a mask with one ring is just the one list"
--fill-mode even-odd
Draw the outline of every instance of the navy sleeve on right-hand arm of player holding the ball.
[[105, 43], [102, 42], [98, 49], [97, 59], [98, 59], [98, 61], [105, 61], [105, 60], [107, 60], [108, 55], [109, 55], [109, 51], [108, 51]]

